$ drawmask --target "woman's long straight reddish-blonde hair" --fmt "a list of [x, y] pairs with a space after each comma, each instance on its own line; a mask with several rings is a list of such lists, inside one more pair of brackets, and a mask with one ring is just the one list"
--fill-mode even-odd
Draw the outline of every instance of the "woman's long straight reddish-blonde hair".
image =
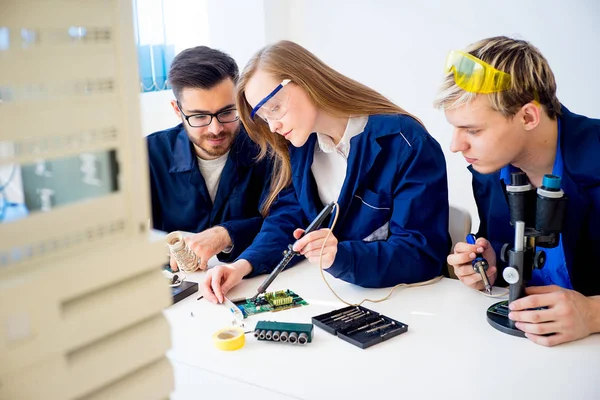
[[383, 95], [335, 71], [297, 43], [282, 40], [263, 47], [244, 68], [236, 90], [240, 120], [250, 138], [260, 146], [259, 159], [267, 155], [274, 159], [271, 190], [261, 208], [263, 215], [268, 214], [279, 193], [291, 183], [292, 168], [288, 141], [271, 132], [269, 126], [260, 118], [250, 118], [252, 107], [246, 101], [245, 88], [259, 69], [277, 80], [290, 79], [307, 93], [320, 111], [329, 115], [350, 117], [404, 114], [421, 123], [418, 118]]

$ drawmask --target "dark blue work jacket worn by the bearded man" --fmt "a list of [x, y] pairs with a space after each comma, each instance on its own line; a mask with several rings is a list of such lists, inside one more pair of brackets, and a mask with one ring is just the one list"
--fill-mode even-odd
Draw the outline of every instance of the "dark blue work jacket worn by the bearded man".
[[260, 231], [262, 196], [268, 192], [270, 163], [256, 163], [259, 149], [241, 126], [223, 168], [213, 204], [198, 168], [193, 144], [182, 124], [147, 137], [154, 229], [201, 232], [220, 225], [233, 249], [220, 254], [230, 262]]

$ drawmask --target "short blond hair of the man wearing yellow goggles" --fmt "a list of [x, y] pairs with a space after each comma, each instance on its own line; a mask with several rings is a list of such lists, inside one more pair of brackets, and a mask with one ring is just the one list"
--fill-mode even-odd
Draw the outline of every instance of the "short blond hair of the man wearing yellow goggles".
[[[513, 117], [525, 104], [536, 100], [550, 118], [560, 115], [554, 74], [542, 53], [529, 42], [496, 36], [473, 43], [465, 51], [511, 76], [510, 89], [487, 95], [493, 110]], [[434, 107], [459, 107], [477, 95], [458, 87], [451, 72], [438, 91]]]

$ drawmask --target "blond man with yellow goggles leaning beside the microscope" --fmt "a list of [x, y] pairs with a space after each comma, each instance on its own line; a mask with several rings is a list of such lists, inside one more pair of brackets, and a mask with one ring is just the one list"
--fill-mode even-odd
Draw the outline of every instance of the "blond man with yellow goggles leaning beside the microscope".
[[599, 332], [600, 121], [558, 101], [548, 62], [526, 41], [483, 39], [450, 52], [446, 68], [435, 106], [454, 126], [450, 149], [471, 164], [480, 219], [477, 243], [457, 243], [448, 263], [464, 284], [482, 289], [471, 260], [483, 253], [497, 283], [506, 267], [497, 254], [515, 237], [505, 194], [511, 173], [525, 173], [533, 188], [546, 174], [558, 176], [568, 197], [560, 241], [544, 249], [543, 268], [523, 272], [529, 287], [511, 302], [509, 318], [547, 346]]

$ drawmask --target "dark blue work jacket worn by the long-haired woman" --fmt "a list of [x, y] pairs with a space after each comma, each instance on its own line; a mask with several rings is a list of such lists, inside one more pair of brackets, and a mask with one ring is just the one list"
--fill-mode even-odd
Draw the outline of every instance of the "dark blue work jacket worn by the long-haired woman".
[[[313, 134], [304, 146], [290, 146], [292, 187], [280, 193], [274, 214], [240, 255], [253, 266], [250, 276], [272, 271], [293, 243], [294, 229], [305, 228], [324, 207], [311, 171], [316, 143]], [[413, 118], [369, 117], [350, 140], [338, 204], [331, 275], [364, 287], [440, 275], [450, 250], [446, 162], [440, 145]]]

